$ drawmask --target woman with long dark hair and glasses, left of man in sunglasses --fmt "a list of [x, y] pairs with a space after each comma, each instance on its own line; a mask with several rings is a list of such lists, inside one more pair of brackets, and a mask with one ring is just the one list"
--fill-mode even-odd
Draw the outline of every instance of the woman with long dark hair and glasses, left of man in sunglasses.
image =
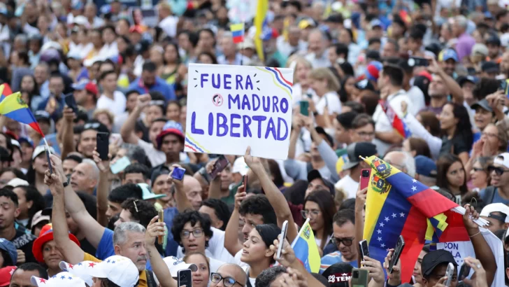
[[304, 219], [310, 219], [309, 225], [315, 234], [316, 244], [323, 251], [333, 233], [332, 222], [336, 214], [334, 197], [326, 190], [313, 191], [306, 197], [301, 214]]

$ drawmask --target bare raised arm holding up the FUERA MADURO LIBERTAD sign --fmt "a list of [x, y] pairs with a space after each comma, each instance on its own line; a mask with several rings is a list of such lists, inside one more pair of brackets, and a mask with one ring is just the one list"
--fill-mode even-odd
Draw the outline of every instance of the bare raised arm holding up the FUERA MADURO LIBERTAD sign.
[[282, 223], [288, 221], [287, 238], [293, 241], [297, 237], [297, 230], [294, 224], [294, 217], [292, 211], [288, 206], [285, 196], [282, 195], [281, 190], [273, 183], [270, 176], [265, 172], [264, 166], [261, 164], [261, 159], [251, 155], [251, 147], [245, 151], [244, 155], [245, 164], [252, 170], [255, 176], [260, 181], [261, 188], [265, 191], [268, 202], [271, 203], [275, 215], [278, 218], [278, 225], [282, 227]]

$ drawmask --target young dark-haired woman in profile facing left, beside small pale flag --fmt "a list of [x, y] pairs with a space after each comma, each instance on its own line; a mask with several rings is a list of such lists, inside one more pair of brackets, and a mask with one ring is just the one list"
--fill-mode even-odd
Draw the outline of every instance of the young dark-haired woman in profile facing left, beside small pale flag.
[[246, 273], [248, 283], [246, 287], [254, 287], [257, 276], [274, 264], [274, 253], [271, 244], [278, 239], [281, 230], [274, 224], [261, 224], [251, 230], [248, 240], [244, 242], [241, 261], [249, 265]]

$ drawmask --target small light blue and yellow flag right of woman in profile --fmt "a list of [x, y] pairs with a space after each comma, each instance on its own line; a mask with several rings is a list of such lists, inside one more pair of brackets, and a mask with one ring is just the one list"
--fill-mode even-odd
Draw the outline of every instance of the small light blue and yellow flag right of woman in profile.
[[292, 242], [295, 257], [301, 261], [308, 272], [318, 273], [320, 271], [320, 252], [316, 245], [315, 235], [309, 225], [309, 218], [302, 225], [299, 235]]

